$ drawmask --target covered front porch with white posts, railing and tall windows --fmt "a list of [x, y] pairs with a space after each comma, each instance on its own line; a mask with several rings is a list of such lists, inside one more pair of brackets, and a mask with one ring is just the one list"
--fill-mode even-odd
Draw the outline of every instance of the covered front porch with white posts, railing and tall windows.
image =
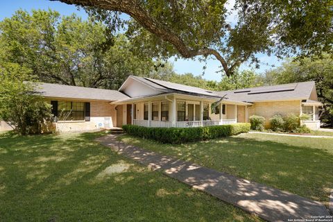
[[123, 101], [119, 104], [122, 108], [117, 110], [126, 108], [126, 112], [121, 112], [126, 117], [117, 116], [124, 124], [153, 128], [193, 128], [248, 121], [248, 103], [221, 101], [214, 108], [219, 99], [180, 94], [150, 96]]

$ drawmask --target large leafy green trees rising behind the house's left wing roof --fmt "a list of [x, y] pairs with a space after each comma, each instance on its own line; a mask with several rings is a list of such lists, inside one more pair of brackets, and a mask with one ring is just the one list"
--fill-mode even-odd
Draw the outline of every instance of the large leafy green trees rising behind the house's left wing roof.
[[154, 65], [133, 53], [126, 36], [107, 35], [100, 22], [53, 10], [18, 10], [0, 22], [0, 32], [0, 61], [22, 65], [46, 83], [115, 89]]

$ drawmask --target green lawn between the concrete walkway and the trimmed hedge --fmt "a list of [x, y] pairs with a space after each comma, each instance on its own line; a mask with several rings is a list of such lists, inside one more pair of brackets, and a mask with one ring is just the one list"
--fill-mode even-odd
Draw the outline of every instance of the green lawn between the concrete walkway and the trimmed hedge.
[[328, 205], [333, 138], [242, 134], [182, 145], [124, 135], [123, 142], [277, 187]]

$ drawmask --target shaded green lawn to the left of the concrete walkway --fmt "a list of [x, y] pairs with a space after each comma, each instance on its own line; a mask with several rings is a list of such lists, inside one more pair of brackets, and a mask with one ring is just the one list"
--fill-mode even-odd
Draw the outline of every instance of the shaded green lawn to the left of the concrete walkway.
[[94, 142], [0, 134], [0, 221], [259, 221]]

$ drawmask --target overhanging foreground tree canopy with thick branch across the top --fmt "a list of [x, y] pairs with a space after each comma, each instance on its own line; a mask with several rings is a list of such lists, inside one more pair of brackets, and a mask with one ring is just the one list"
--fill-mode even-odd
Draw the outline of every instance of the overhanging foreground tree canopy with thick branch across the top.
[[[235, 24], [227, 21], [227, 0], [58, 1], [84, 6], [110, 31], [126, 29], [139, 51], [158, 58], [212, 56], [227, 76], [245, 61], [258, 66], [256, 53], [332, 53], [332, 0], [237, 0]], [[121, 12], [130, 15], [130, 21], [123, 21]]]

